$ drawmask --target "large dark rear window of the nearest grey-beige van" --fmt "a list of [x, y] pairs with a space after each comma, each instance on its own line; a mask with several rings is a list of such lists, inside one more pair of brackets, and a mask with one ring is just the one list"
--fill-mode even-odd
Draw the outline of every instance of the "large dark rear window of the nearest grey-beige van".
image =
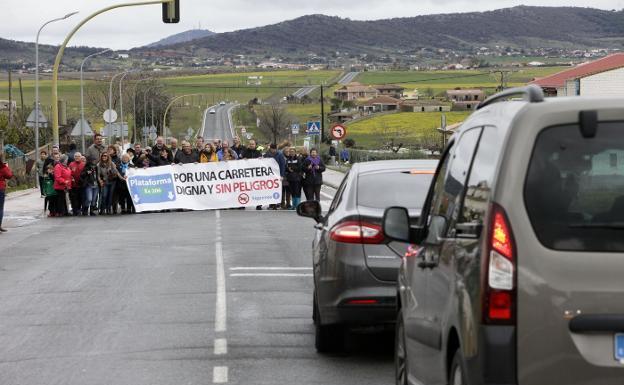
[[543, 130], [524, 196], [544, 246], [624, 251], [624, 122], [600, 123], [594, 138], [577, 125]]

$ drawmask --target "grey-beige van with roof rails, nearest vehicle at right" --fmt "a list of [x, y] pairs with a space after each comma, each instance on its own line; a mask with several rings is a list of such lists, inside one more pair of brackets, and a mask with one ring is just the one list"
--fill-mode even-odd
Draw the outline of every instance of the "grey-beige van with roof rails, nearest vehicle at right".
[[386, 236], [416, 245], [397, 384], [624, 383], [622, 106], [492, 97], [450, 140], [419, 224], [386, 211]]

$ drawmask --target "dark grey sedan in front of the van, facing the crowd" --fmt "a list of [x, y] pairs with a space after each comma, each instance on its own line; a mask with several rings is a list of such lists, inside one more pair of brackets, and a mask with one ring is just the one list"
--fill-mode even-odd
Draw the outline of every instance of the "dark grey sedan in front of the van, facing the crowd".
[[357, 163], [338, 188], [329, 211], [319, 202], [298, 207], [317, 221], [312, 245], [316, 349], [340, 350], [349, 326], [395, 321], [396, 277], [406, 244], [389, 242], [381, 221], [395, 202], [420, 213], [437, 161]]

